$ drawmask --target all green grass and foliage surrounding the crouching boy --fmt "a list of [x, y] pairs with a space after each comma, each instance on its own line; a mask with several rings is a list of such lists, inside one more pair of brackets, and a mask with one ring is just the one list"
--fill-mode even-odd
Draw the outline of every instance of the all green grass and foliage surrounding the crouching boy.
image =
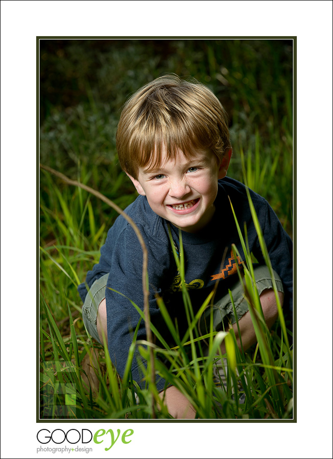
[[[136, 192], [117, 162], [115, 132], [121, 107], [133, 91], [162, 73], [191, 75], [215, 92], [229, 114], [233, 157], [228, 175], [246, 181], [264, 196], [293, 235], [292, 41], [42, 40], [40, 64], [42, 164], [98, 190], [125, 209]], [[150, 391], [138, 390], [137, 402], [130, 373], [122, 380], [117, 377], [108, 352], [87, 336], [81, 319], [77, 286], [98, 262], [116, 216], [92, 193], [41, 169], [43, 419], [170, 417], [165, 406], [156, 409], [153, 382]], [[250, 256], [247, 264], [250, 277]], [[250, 296], [253, 311], [259, 310], [257, 295]], [[191, 309], [185, 290], [184, 305]], [[167, 316], [162, 302], [160, 308]], [[285, 326], [280, 311], [268, 333], [255, 317], [258, 346], [246, 353], [234, 345], [231, 333], [225, 336], [223, 332], [209, 337], [209, 359], [197, 352], [191, 336], [192, 360], [181, 343], [177, 349], [168, 348], [167, 343], [163, 349], [153, 349], [154, 355], [167, 356], [172, 368], [156, 360], [155, 371], [186, 394], [198, 418], [293, 417], [291, 323]], [[195, 330], [195, 321], [190, 325]], [[226, 391], [212, 377], [222, 339], [229, 357]], [[136, 345], [145, 356], [146, 348]], [[134, 344], [129, 359], [133, 351]], [[150, 365], [147, 379], [152, 379]], [[239, 403], [239, 382], [246, 395], [243, 404]]]

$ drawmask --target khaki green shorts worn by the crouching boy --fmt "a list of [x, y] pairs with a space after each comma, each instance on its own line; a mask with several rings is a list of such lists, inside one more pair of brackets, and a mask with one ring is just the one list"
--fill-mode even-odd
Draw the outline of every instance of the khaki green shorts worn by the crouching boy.
[[[99, 343], [101, 341], [97, 332], [97, 313], [101, 301], [105, 298], [105, 289], [108, 277], [109, 274], [105, 274], [92, 284], [82, 307], [83, 322], [88, 330], [88, 333]], [[259, 295], [261, 295], [264, 290], [273, 288], [272, 279], [267, 266], [254, 267], [254, 277]], [[283, 293], [281, 279], [275, 271], [274, 278], [277, 290]], [[239, 280], [235, 282], [230, 290], [232, 292], [237, 318], [240, 319], [246, 312], [248, 312], [249, 305], [247, 300], [244, 298], [243, 287]], [[200, 319], [199, 329], [202, 335], [208, 333], [209, 331], [210, 311], [211, 307], [209, 306]], [[213, 327], [218, 331], [223, 330], [223, 326], [226, 326], [228, 322], [234, 323], [236, 321], [229, 293], [224, 295], [213, 305], [212, 314]]]

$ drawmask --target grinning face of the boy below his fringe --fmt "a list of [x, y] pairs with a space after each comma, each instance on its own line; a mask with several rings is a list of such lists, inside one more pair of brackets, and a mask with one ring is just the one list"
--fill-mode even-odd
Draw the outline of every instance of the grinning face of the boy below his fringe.
[[190, 160], [179, 151], [176, 160], [164, 160], [154, 170], [139, 168], [138, 179], [130, 179], [157, 215], [183, 231], [195, 233], [215, 212], [218, 179], [227, 173], [231, 148], [226, 156], [218, 166], [210, 151], [195, 153]]

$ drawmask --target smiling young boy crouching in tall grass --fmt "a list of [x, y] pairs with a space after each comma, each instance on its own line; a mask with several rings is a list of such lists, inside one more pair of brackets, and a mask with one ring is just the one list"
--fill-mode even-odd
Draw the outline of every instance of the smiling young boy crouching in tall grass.
[[[276, 320], [277, 307], [245, 186], [226, 177], [232, 150], [227, 115], [219, 100], [198, 82], [181, 80], [176, 75], [160, 77], [128, 100], [118, 124], [116, 147], [120, 164], [139, 194], [126, 213], [138, 226], [148, 249], [151, 321], [163, 335], [167, 327], [157, 305], [157, 294], [163, 297], [180, 333], [184, 334], [187, 328], [172, 250], [172, 244], [179, 247], [180, 228], [185, 282], [195, 312], [218, 282], [214, 326], [217, 330], [223, 329], [223, 323], [229, 320], [238, 338], [228, 294], [231, 289], [243, 347], [248, 348], [256, 338], [237, 275], [236, 264], [242, 269], [241, 261], [245, 257], [229, 198], [240, 227], [244, 228], [246, 223], [249, 248], [259, 262], [255, 278], [269, 327]], [[284, 304], [291, 304], [291, 239], [267, 201], [254, 192], [251, 197], [275, 271], [281, 304], [283, 299]], [[236, 260], [231, 252], [232, 244], [241, 255]], [[118, 217], [110, 228], [101, 248], [100, 262], [88, 272], [86, 284], [79, 286], [84, 301], [84, 322], [98, 341], [102, 341], [104, 331], [111, 361], [122, 376], [133, 331], [140, 318], [129, 299], [141, 309], [144, 305], [142, 249], [124, 217]], [[209, 324], [209, 319], [206, 322]], [[203, 318], [203, 334], [206, 333], [204, 326]], [[172, 343], [167, 331], [163, 338]], [[143, 321], [137, 339], [146, 339]], [[222, 352], [225, 352], [224, 345]], [[145, 386], [135, 358], [132, 376], [140, 386]], [[174, 417], [195, 417], [186, 398], [175, 387], [167, 388], [168, 381], [157, 376], [156, 385], [158, 390], [165, 391], [165, 403]]]

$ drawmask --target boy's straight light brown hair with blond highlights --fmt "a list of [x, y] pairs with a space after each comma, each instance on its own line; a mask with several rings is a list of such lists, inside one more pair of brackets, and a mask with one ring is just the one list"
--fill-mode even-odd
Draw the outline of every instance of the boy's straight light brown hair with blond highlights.
[[155, 169], [162, 151], [190, 159], [210, 150], [221, 164], [230, 148], [227, 114], [205, 85], [171, 74], [139, 89], [125, 104], [116, 133], [121, 167], [137, 180], [139, 167]]

